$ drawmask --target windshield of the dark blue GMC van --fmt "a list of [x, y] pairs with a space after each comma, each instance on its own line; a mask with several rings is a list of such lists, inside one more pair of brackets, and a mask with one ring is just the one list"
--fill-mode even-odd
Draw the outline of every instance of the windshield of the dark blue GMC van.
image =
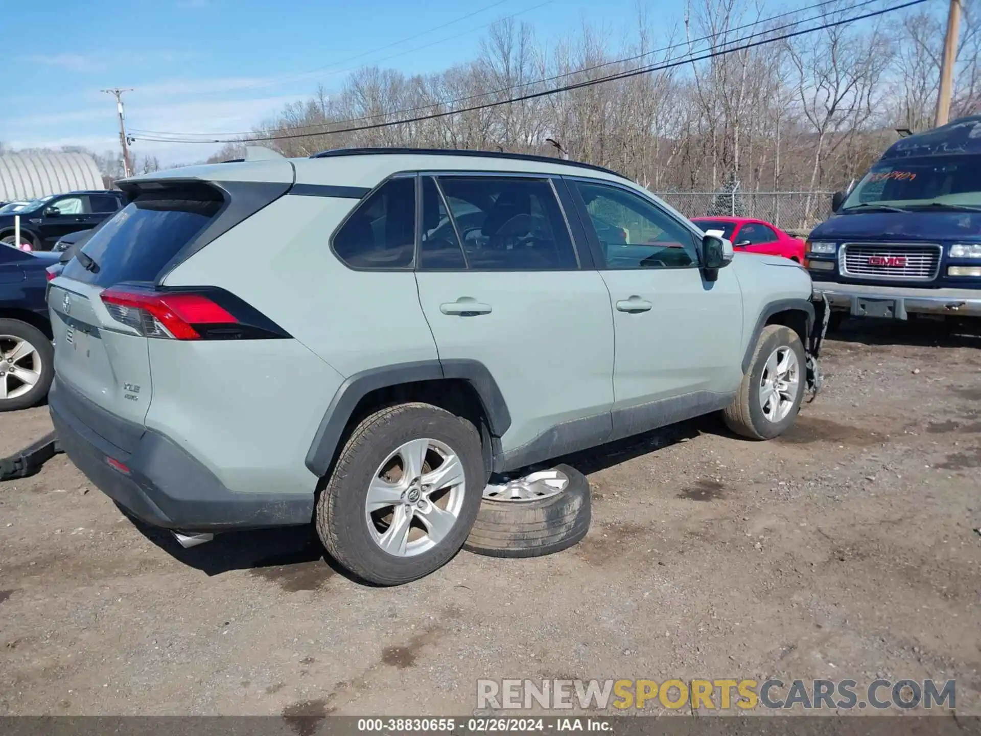
[[981, 206], [981, 155], [876, 164], [852, 189], [840, 211], [860, 212], [877, 205], [904, 209]]

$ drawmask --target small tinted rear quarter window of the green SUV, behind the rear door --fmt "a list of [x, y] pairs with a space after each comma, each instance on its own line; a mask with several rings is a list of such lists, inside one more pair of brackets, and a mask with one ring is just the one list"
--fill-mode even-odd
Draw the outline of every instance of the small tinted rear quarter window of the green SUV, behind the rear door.
[[392, 179], [361, 202], [333, 240], [351, 268], [411, 268], [416, 236], [416, 181]]

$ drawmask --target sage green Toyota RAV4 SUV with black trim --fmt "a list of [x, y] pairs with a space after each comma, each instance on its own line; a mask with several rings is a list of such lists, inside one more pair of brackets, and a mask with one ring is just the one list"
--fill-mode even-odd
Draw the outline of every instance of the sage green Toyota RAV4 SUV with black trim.
[[800, 408], [807, 274], [604, 169], [250, 149], [120, 185], [51, 282], [51, 415], [185, 539], [313, 522], [402, 583], [460, 549], [494, 473], [719, 410], [772, 438]]

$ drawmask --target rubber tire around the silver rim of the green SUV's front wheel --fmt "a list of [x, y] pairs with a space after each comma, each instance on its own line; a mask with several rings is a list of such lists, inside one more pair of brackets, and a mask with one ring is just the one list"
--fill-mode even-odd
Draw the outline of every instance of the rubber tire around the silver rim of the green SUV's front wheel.
[[[767, 375], [770, 373], [767, 368], [767, 361], [778, 350], [789, 350], [797, 359], [797, 385], [795, 390], [791, 384], [788, 392], [789, 404], [781, 401], [781, 411], [775, 412], [774, 418], [771, 419], [763, 411], [760, 390], [764, 373]], [[786, 353], [783, 354], [786, 355]], [[749, 363], [749, 371], [743, 377], [739, 392], [733, 402], [723, 411], [726, 425], [737, 435], [752, 440], [770, 440], [781, 435], [794, 423], [800, 411], [800, 401], [803, 399], [806, 384], [805, 375], [803, 345], [800, 343], [798, 334], [783, 325], [767, 325], [756, 341], [756, 349], [753, 351], [752, 361]], [[790, 382], [788, 381], [788, 383]], [[781, 392], [781, 396], [783, 395], [785, 394]], [[772, 407], [772, 404], [768, 405]], [[787, 413], [781, 416], [784, 408], [786, 408]]]

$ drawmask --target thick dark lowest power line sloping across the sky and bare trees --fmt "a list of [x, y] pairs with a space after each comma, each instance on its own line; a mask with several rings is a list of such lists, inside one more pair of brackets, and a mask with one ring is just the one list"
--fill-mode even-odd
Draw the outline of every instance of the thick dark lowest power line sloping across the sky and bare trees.
[[[546, 97], [552, 94], [559, 94], [561, 92], [573, 91], [575, 89], [582, 89], [585, 87], [591, 87], [596, 84], [602, 84], [607, 81], [616, 81], [619, 79], [631, 79], [633, 77], [638, 77], [640, 75], [650, 74], [651, 72], [660, 72], [666, 69], [671, 69], [674, 67], [679, 67], [685, 64], [694, 64], [698, 61], [704, 61], [706, 59], [712, 59], [717, 56], [725, 56], [727, 54], [734, 53], [736, 51], [746, 51], [750, 48], [755, 48], [757, 46], [762, 46], [767, 43], [775, 43], [777, 41], [787, 40], [789, 38], [794, 38], [796, 36], [804, 35], [806, 33], [813, 33], [816, 30], [824, 30], [826, 28], [832, 28], [836, 26], [844, 26], [849, 23], [854, 23], [856, 21], [864, 21], [869, 18], [875, 18], [877, 16], [882, 16], [887, 13], [893, 13], [898, 10], [903, 10], [904, 8], [909, 8], [914, 5], [920, 5], [925, 3], [927, 0], [909, 0], [909, 2], [903, 3], [902, 5], [896, 5], [892, 8], [885, 8], [883, 10], [873, 11], [871, 13], [866, 13], [861, 16], [855, 16], [854, 18], [846, 18], [841, 21], [835, 21], [832, 23], [826, 23], [821, 26], [815, 26], [812, 28], [804, 28], [803, 30], [796, 30], [790, 33], [784, 33], [783, 35], [774, 36], [772, 38], [766, 38], [760, 41], [753, 41], [751, 43], [743, 44], [742, 46], [734, 46], [728, 49], [721, 49], [718, 51], [712, 51], [709, 53], [702, 54], [700, 56], [691, 57], [684, 60], [672, 61], [661, 65], [652, 65], [649, 67], [643, 67], [641, 69], [632, 70], [629, 72], [623, 72], [620, 74], [610, 75], [607, 77], [600, 77], [597, 79], [587, 79], [585, 81], [576, 82], [574, 84], [566, 84], [561, 87], [556, 87], [554, 89], [546, 89], [540, 92], [532, 92], [530, 94], [525, 94], [519, 97], [513, 97], [506, 100], [495, 100], [492, 102], [487, 102], [481, 105], [473, 105], [471, 107], [460, 108], [457, 110], [446, 110], [439, 113], [434, 113], [432, 115], [421, 115], [415, 118], [405, 118], [395, 121], [387, 121], [385, 123], [377, 123], [368, 126], [355, 126], [353, 128], [342, 128], [336, 131], [323, 131], [323, 132], [304, 132], [304, 133], [283, 133], [277, 135], [253, 135], [246, 139], [226, 139], [226, 140], [212, 140], [212, 141], [201, 141], [201, 140], [158, 140], [157, 142], [172, 142], [172, 143], [200, 143], [200, 142], [212, 142], [212, 143], [241, 143], [241, 142], [257, 142], [265, 140], [288, 140], [292, 138], [306, 138], [314, 135], [334, 135], [343, 132], [358, 132], [358, 131], [369, 131], [376, 130], [380, 128], [390, 128], [392, 126], [407, 125], [409, 123], [421, 123], [427, 120], [436, 120], [439, 118], [445, 118], [451, 115], [461, 115], [462, 113], [475, 112], [478, 110], [486, 110], [492, 107], [499, 107], [500, 105], [513, 104], [515, 102], [524, 102], [526, 100], [537, 99], [539, 97]], [[395, 113], [393, 113], [395, 114]], [[141, 138], [142, 140], [153, 140], [153, 138]]]

